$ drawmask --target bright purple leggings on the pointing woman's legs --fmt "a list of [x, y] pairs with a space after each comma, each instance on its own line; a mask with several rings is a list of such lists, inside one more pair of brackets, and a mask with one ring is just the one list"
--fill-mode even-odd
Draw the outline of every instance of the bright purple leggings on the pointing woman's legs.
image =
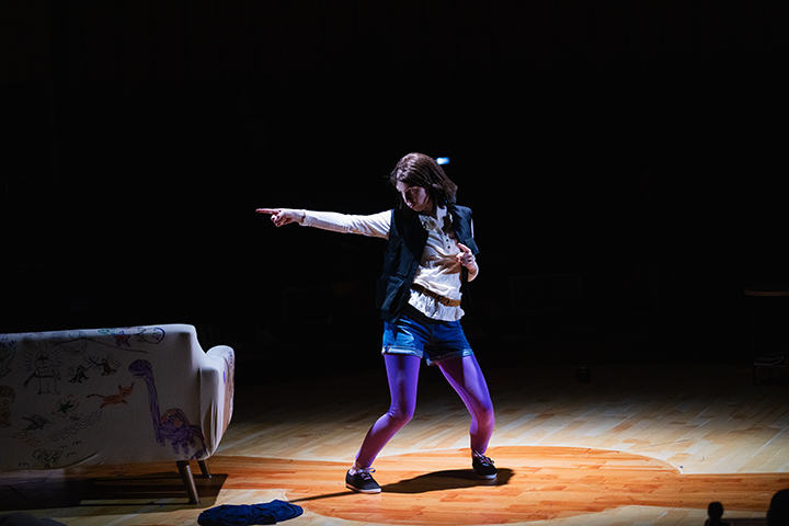
[[[384, 446], [409, 423], [416, 405], [416, 386], [422, 358], [385, 354], [391, 405], [367, 432], [356, 455], [356, 467], [369, 468]], [[462, 356], [436, 364], [471, 413], [471, 450], [484, 454], [493, 434], [493, 404], [477, 358]]]

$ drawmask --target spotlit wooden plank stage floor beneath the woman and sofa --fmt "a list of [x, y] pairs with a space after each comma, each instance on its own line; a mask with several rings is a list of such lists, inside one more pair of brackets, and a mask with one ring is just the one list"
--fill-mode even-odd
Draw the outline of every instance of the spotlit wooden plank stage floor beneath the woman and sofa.
[[494, 483], [471, 478], [466, 410], [423, 367], [416, 415], [376, 462], [379, 495], [351, 493], [344, 473], [388, 407], [382, 373], [239, 387], [198, 505], [174, 464], [99, 466], [0, 473], [0, 514], [194, 525], [208, 507], [284, 499], [305, 510], [293, 526], [700, 526], [720, 501], [744, 525], [789, 488], [789, 388], [752, 386], [747, 366], [598, 366], [590, 384], [570, 367], [485, 374]]

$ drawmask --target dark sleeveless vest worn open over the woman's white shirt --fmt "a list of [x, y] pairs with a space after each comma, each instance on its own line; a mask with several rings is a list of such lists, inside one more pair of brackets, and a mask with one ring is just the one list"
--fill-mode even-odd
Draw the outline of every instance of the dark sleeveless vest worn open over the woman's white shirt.
[[[471, 249], [477, 255], [479, 249], [471, 237], [471, 209], [465, 206], [449, 205], [453, 230], [457, 240]], [[384, 270], [376, 287], [376, 307], [381, 318], [393, 321], [400, 309], [409, 300], [409, 289], [416, 275], [422, 252], [427, 243], [427, 230], [422, 227], [419, 216], [411, 210], [393, 209], [389, 243], [384, 253]], [[462, 270], [462, 287], [466, 293], [468, 271]], [[462, 295], [464, 308], [468, 308], [468, 294]]]

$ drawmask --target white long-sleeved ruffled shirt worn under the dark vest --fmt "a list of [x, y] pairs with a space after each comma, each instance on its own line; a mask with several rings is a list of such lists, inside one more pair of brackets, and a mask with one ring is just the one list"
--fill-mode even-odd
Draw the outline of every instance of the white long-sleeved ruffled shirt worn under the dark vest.
[[[339, 214], [335, 211], [299, 210], [304, 214], [301, 226], [343, 233], [358, 233], [374, 238], [389, 239], [391, 210], [369, 216]], [[462, 265], [457, 259], [460, 249], [443, 226], [448, 221], [446, 207], [436, 210], [436, 218], [420, 216], [422, 226], [427, 230], [427, 243], [420, 258], [414, 283], [449, 299], [460, 299]], [[469, 272], [469, 281], [477, 277], [477, 268]], [[411, 290], [409, 304], [428, 318], [442, 321], [456, 321], [462, 318], [460, 307], [448, 307], [434, 298]]]

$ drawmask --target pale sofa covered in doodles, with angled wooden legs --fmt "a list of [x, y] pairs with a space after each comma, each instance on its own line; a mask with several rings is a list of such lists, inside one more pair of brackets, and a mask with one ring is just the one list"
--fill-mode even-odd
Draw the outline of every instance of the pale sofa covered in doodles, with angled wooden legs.
[[235, 354], [192, 325], [0, 334], [0, 470], [173, 460], [216, 451], [232, 415]]

